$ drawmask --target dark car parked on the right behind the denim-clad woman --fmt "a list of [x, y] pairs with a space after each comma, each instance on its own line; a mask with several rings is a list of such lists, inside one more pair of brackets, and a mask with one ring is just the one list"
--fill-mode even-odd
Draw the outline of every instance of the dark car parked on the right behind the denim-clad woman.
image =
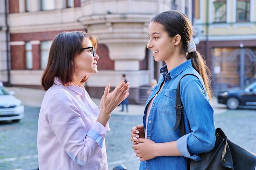
[[256, 81], [244, 88], [229, 88], [218, 93], [218, 103], [226, 104], [229, 109], [239, 106], [256, 106]]

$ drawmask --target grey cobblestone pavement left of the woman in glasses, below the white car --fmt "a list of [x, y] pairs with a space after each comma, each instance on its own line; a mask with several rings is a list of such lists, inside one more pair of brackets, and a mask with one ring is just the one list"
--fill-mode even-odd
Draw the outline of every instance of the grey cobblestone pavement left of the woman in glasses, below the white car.
[[36, 169], [37, 120], [39, 108], [25, 107], [19, 123], [0, 122], [0, 170]]

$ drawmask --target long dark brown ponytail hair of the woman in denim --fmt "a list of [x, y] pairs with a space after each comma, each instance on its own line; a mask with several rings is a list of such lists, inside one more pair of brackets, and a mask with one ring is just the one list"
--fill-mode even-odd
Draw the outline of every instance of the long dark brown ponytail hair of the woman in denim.
[[[191, 42], [193, 31], [192, 25], [184, 13], [176, 10], [165, 11], [155, 15], [150, 20], [150, 22], [152, 21], [161, 24], [171, 38], [179, 34], [183, 44], [183, 49], [180, 52], [186, 53], [187, 45]], [[201, 75], [209, 99], [211, 99], [213, 95], [211, 89], [211, 71], [204, 58], [198, 51], [188, 53], [187, 58], [191, 59], [193, 68]]]

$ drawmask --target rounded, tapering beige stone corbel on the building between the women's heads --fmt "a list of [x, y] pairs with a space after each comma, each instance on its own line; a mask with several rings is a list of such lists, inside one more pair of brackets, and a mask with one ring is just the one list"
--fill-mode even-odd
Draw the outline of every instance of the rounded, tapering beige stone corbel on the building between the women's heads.
[[[145, 57], [148, 24], [159, 12], [171, 9], [171, 2], [159, 0], [91, 0], [82, 2], [78, 21], [105, 44], [116, 71], [139, 71]], [[101, 9], [101, 10], [99, 10]]]

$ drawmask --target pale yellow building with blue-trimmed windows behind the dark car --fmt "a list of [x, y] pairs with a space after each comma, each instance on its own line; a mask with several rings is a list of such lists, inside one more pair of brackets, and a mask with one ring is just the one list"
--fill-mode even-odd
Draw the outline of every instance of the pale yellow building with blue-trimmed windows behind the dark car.
[[255, 0], [195, 0], [197, 48], [212, 70], [213, 89], [256, 79]]

